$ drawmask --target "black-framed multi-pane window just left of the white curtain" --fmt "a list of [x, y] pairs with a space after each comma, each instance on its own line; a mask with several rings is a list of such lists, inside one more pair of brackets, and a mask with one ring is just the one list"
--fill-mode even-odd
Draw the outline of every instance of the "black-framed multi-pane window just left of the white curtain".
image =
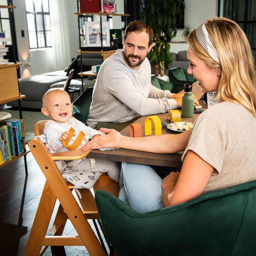
[[30, 49], [51, 47], [49, 0], [25, 0]]

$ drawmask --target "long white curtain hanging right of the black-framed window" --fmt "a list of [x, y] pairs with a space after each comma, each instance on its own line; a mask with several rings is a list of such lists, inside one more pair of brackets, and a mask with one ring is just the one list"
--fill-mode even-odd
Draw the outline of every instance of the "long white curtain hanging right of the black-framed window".
[[64, 70], [71, 63], [67, 5], [63, 0], [50, 0], [49, 5], [55, 70]]

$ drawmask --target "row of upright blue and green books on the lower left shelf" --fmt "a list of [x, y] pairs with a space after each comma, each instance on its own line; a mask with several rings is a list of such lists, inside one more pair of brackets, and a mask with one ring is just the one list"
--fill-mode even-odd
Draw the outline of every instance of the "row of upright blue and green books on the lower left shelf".
[[0, 165], [20, 156], [25, 149], [23, 120], [0, 121]]

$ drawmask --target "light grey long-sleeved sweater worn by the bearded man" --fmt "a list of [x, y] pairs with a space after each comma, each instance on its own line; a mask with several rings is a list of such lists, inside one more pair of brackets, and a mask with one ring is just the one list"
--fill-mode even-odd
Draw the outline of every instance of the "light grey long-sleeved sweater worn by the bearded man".
[[177, 107], [169, 90], [151, 85], [149, 60], [146, 58], [140, 69], [132, 69], [122, 52], [117, 50], [100, 66], [87, 118], [90, 127], [98, 122], [123, 123], [138, 115], [165, 113]]

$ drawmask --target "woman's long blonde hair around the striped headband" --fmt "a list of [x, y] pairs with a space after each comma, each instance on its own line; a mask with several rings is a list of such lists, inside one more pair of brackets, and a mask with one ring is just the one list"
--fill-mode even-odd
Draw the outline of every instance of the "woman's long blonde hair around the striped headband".
[[245, 33], [236, 22], [214, 17], [206, 20], [206, 29], [214, 41], [220, 59], [218, 64], [202, 48], [196, 30], [188, 36], [191, 50], [210, 68], [221, 70], [217, 89], [219, 102], [231, 101], [243, 105], [256, 117], [256, 90], [251, 47]]

